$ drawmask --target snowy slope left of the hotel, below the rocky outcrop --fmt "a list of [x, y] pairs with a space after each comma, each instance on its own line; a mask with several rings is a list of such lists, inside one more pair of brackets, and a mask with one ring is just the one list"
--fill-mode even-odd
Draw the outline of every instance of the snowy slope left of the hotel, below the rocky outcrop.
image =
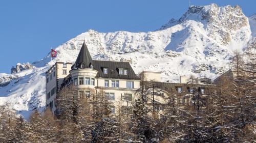
[[45, 106], [45, 72], [49, 66], [21, 71], [15, 74], [0, 74], [0, 105], [9, 105], [28, 119], [33, 109]]

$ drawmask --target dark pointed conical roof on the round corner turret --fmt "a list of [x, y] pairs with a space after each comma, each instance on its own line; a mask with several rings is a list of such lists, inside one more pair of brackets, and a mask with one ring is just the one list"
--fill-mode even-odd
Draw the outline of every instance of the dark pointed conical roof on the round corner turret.
[[83, 41], [80, 52], [77, 56], [75, 64], [71, 67], [73, 69], [91, 68], [93, 60], [90, 52], [86, 46], [86, 42]]

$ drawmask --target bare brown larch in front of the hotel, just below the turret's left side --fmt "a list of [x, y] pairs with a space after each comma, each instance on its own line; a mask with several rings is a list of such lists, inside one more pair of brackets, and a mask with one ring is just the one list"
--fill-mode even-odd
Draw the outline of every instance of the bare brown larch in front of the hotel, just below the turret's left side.
[[80, 142], [83, 132], [78, 124], [79, 94], [73, 86], [64, 88], [57, 96], [59, 119], [58, 142]]

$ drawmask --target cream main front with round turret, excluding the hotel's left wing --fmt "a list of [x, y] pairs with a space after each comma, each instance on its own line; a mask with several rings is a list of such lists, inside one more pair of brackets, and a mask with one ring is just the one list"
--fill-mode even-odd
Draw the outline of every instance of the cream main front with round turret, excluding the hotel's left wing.
[[120, 104], [120, 102], [122, 102], [123, 106], [127, 106], [129, 101], [127, 102], [125, 96], [129, 95], [131, 101], [136, 99], [135, 91], [140, 88], [140, 80], [98, 78], [96, 77], [97, 73], [98, 71], [94, 69], [70, 71], [72, 83], [75, 88], [78, 88], [79, 93], [83, 92], [86, 94], [86, 92], [90, 92], [89, 89], [103, 90], [115, 106]]

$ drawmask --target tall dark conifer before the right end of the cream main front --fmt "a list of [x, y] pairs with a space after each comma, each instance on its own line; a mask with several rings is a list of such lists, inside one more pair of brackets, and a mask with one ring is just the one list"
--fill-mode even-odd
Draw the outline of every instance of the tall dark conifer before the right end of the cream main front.
[[159, 142], [159, 128], [155, 124], [158, 121], [158, 114], [155, 110], [156, 87], [153, 82], [145, 81], [144, 72], [140, 73], [141, 86], [136, 92], [138, 99], [134, 103], [132, 121], [135, 123], [133, 131], [137, 139], [142, 142]]

